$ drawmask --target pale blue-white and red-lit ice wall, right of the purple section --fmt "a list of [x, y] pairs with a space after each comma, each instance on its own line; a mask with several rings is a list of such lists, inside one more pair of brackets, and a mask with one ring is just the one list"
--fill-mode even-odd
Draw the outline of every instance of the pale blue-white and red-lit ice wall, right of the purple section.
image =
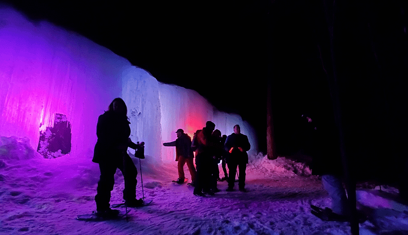
[[[254, 131], [237, 114], [220, 112], [197, 91], [158, 82], [148, 72], [137, 67], [122, 73], [122, 97], [128, 106], [133, 141], [145, 141], [145, 151], [159, 160], [174, 160], [176, 150], [164, 147], [164, 142], [177, 138], [175, 131], [183, 129], [190, 137], [210, 120], [222, 134], [231, 134], [238, 124], [248, 135], [253, 149], [257, 148]], [[133, 151], [131, 151], [134, 153]]]

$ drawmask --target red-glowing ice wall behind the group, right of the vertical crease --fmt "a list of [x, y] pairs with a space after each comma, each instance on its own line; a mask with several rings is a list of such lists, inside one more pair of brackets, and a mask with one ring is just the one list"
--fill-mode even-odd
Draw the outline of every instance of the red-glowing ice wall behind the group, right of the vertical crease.
[[[193, 137], [194, 132], [210, 120], [215, 129], [226, 135], [230, 135], [238, 124], [241, 132], [248, 135], [251, 150], [257, 149], [254, 130], [241, 116], [218, 111], [197, 91], [168, 84], [159, 84], [159, 88], [162, 143], [176, 139], [175, 131], [179, 128]], [[163, 160], [176, 159], [174, 148], [162, 146], [161, 151]]]

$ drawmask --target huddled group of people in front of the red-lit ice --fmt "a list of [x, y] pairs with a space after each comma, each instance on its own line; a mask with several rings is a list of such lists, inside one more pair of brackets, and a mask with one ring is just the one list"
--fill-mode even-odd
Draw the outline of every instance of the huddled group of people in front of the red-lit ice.
[[[218, 164], [222, 161], [224, 179], [228, 181], [227, 191], [233, 191], [236, 169], [239, 169], [239, 190], [246, 192], [245, 178], [248, 163], [247, 151], [251, 148], [248, 137], [241, 133], [239, 125], [234, 126], [234, 133], [229, 136], [221, 135], [215, 129], [215, 124], [208, 121], [201, 130], [194, 133], [193, 140], [182, 129], [176, 131], [177, 139], [173, 142], [163, 143], [164, 146], [176, 147], [176, 161], [178, 161], [178, 183], [183, 183], [185, 176], [183, 167], [187, 163], [191, 175], [191, 184], [195, 186], [194, 195], [213, 195], [220, 192], [217, 181], [221, 181]], [[196, 166], [193, 159], [196, 152]], [[228, 165], [229, 177], [226, 169]]]

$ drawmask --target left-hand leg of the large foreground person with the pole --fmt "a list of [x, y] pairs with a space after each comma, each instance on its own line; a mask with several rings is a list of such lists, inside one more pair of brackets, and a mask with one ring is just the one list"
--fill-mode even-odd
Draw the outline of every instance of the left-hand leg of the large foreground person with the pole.
[[113, 184], [115, 183], [116, 166], [102, 162], [99, 163], [99, 169], [101, 176], [99, 177], [95, 202], [97, 203], [97, 211], [105, 212], [110, 208], [110, 192], [113, 190]]

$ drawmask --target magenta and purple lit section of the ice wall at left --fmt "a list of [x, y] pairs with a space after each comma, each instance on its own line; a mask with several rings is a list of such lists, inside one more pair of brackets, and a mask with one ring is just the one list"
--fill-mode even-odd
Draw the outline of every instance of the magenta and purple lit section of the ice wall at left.
[[56, 113], [72, 125], [72, 150], [90, 154], [95, 119], [121, 93], [129, 63], [111, 51], [50, 23], [30, 22], [0, 9], [0, 135], [27, 136], [37, 149], [39, 131]]

